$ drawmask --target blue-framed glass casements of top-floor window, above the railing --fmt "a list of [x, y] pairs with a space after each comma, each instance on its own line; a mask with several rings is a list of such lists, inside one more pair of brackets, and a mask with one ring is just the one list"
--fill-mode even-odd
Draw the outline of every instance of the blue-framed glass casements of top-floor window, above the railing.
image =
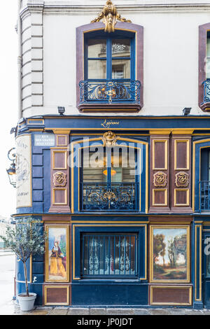
[[118, 31], [111, 36], [102, 32], [85, 36], [85, 80], [134, 80], [134, 62], [134, 34]]

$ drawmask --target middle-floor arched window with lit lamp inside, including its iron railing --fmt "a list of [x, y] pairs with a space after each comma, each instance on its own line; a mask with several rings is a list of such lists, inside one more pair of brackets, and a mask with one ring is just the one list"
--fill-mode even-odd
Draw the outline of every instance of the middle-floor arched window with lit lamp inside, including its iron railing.
[[80, 188], [83, 211], [138, 210], [137, 153], [133, 148], [118, 146], [104, 148], [100, 155], [87, 149], [83, 151]]

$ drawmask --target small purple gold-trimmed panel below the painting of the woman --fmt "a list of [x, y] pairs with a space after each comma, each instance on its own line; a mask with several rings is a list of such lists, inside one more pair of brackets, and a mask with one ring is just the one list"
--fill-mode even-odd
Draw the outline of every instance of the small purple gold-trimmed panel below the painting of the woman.
[[69, 305], [70, 286], [44, 286], [44, 305]]

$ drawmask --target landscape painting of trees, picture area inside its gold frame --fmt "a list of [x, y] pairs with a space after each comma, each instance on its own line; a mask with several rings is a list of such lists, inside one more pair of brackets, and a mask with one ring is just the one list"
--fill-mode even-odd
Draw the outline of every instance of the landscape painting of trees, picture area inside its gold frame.
[[153, 280], [188, 279], [187, 228], [153, 229]]

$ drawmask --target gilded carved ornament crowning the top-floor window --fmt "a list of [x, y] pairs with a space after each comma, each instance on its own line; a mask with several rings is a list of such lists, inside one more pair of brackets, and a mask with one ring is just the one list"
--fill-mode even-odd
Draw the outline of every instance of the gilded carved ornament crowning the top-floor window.
[[99, 22], [100, 20], [103, 20], [105, 24], [105, 32], [114, 32], [115, 26], [117, 20], [120, 20], [120, 22], [127, 22], [131, 23], [131, 20], [126, 20], [125, 18], [122, 18], [121, 15], [118, 13], [118, 10], [115, 5], [113, 5], [112, 1], [108, 0], [106, 1], [106, 5], [102, 9], [102, 12], [99, 13], [98, 17], [92, 20], [91, 22]]

